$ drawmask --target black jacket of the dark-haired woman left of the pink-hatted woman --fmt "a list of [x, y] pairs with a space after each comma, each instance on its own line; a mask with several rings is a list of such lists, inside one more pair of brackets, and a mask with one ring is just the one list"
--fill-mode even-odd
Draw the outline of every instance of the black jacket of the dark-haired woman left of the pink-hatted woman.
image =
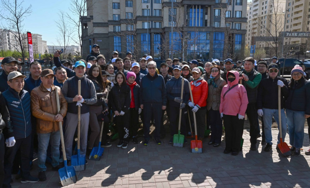
[[125, 82], [121, 86], [115, 83], [108, 99], [108, 103], [110, 103], [113, 111], [128, 112], [131, 102], [130, 87]]

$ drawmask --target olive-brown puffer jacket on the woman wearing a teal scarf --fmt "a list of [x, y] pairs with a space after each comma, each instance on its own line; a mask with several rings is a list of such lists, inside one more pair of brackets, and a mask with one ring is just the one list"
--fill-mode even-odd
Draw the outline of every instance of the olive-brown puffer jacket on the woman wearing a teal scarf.
[[218, 74], [214, 79], [217, 88], [212, 84], [208, 84], [208, 98], [207, 98], [207, 109], [219, 110], [219, 104], [221, 103], [221, 92], [223, 87], [227, 84], [221, 75]]

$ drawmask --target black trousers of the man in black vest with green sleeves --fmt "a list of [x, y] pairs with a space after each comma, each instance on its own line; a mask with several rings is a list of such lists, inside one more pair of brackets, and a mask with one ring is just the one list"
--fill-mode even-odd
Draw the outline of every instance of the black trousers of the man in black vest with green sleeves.
[[[246, 115], [248, 117], [248, 120], [250, 122], [250, 143], [256, 144], [257, 139], [257, 109], [256, 104], [248, 104], [246, 108]], [[242, 129], [243, 130], [243, 129]], [[243, 131], [242, 131], [243, 134]], [[241, 135], [242, 136], [242, 135]]]

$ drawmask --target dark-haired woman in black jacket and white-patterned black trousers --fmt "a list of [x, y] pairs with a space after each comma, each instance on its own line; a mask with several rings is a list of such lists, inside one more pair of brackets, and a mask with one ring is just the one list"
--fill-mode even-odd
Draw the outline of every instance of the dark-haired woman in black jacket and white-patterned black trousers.
[[130, 102], [131, 90], [126, 84], [124, 73], [118, 71], [115, 74], [116, 83], [108, 96], [108, 103], [112, 107], [116, 126], [118, 130], [118, 138], [120, 139], [117, 147], [126, 149], [129, 139], [129, 119], [130, 119]]

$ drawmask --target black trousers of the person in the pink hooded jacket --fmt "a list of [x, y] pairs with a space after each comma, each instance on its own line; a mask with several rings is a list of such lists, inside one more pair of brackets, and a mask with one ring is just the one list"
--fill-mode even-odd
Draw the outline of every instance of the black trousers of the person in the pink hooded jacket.
[[223, 115], [225, 126], [225, 150], [239, 152], [243, 130], [243, 119], [232, 115]]

